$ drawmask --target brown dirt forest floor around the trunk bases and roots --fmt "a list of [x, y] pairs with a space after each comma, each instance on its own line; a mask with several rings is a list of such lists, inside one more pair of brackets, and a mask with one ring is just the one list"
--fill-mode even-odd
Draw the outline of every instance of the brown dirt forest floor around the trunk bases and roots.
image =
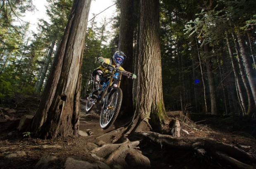
[[[56, 138], [42, 140], [33, 138], [33, 133], [24, 136], [17, 130], [19, 119], [23, 115], [34, 115], [38, 108], [39, 99], [23, 99], [15, 101], [8, 106], [2, 106], [0, 111], [0, 169], [35, 168], [41, 157], [49, 155], [57, 157], [54, 162], [45, 168], [81, 168], [78, 166], [67, 167], [67, 158], [95, 162], [91, 151], [106, 143], [111, 143], [117, 137], [101, 137], [126, 124], [131, 117], [120, 115], [114, 125], [107, 130], [100, 128], [100, 107], [96, 107], [90, 114], [85, 112], [85, 100], [81, 99], [80, 133], [78, 138]], [[9, 108], [9, 109], [7, 109]], [[7, 117], [7, 116], [9, 117]], [[211, 115], [181, 116], [181, 137], [207, 137], [234, 145], [240, 149], [256, 155], [256, 122], [240, 120], [238, 117], [217, 117]], [[170, 126], [165, 126], [165, 131], [171, 131]], [[31, 136], [31, 137], [30, 137]], [[204, 169], [204, 168], [232, 168], [223, 166], [212, 159], [199, 158], [195, 153], [184, 150], [163, 148], [154, 143], [143, 145], [142, 153], [151, 162], [151, 168], [161, 169]], [[42, 166], [41, 166], [42, 167]], [[37, 166], [37, 168], [40, 168]], [[90, 168], [90, 167], [88, 167]], [[94, 168], [94, 167], [91, 167]]]

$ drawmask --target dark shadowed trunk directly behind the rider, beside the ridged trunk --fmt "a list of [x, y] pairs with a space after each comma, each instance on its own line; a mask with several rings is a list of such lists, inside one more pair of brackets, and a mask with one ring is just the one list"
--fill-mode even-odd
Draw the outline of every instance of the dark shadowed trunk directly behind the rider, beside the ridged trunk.
[[[133, 0], [122, 0], [121, 23], [119, 34], [119, 50], [126, 54], [123, 68], [133, 72]], [[133, 113], [133, 81], [123, 78], [121, 83], [123, 91], [122, 109], [125, 113]]]

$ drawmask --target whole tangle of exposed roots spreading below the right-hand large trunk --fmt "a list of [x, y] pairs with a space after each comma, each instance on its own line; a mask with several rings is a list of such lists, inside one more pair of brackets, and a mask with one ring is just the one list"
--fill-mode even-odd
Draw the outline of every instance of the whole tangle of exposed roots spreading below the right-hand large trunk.
[[[113, 168], [150, 168], [150, 161], [144, 155], [152, 158], [152, 153], [142, 147], [144, 154], [142, 155], [142, 152], [138, 148], [138, 146], [145, 145], [149, 139], [150, 143], [160, 145], [162, 149], [175, 149], [176, 154], [179, 154], [177, 150], [181, 150], [180, 153], [184, 153], [183, 150], [185, 150], [185, 152], [190, 152], [197, 155], [200, 159], [204, 159], [206, 163], [214, 161], [217, 162], [217, 164], [231, 166], [232, 168], [256, 169], [256, 155], [246, 153], [236, 146], [217, 141], [213, 138], [178, 138], [180, 132], [180, 124], [178, 120], [173, 121], [172, 129], [172, 134], [176, 137], [148, 131], [149, 127], [147, 124], [142, 120], [140, 121], [138, 116], [135, 115], [133, 117], [133, 122], [127, 127], [115, 129], [95, 138], [98, 141], [104, 138], [106, 143], [114, 144], [105, 144], [100, 148], [95, 148], [91, 153], [95, 159], [100, 160]], [[141, 140], [135, 141], [133, 137], [131, 138], [133, 142], [130, 142], [128, 137], [130, 138], [131, 135], [136, 137], [135, 140]], [[139, 143], [141, 144], [139, 145]], [[144, 152], [145, 150], [146, 152]], [[164, 154], [160, 153], [159, 155], [163, 156]], [[161, 158], [159, 155], [156, 158]], [[172, 156], [170, 157], [172, 158]]]

